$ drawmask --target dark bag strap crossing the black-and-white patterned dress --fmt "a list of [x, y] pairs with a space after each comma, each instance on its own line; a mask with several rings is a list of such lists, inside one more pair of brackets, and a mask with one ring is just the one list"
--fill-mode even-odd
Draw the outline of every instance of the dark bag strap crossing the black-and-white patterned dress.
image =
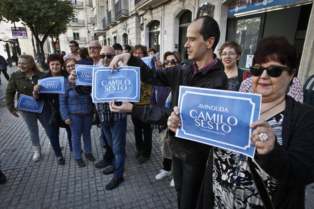
[[255, 182], [258, 194], [259, 194], [259, 196], [262, 199], [264, 207], [266, 209], [268, 209], [268, 208], [274, 209], [275, 207], [273, 206], [273, 202], [272, 202], [272, 200], [271, 200], [271, 198], [269, 196], [269, 193], [268, 193], [268, 191], [266, 189], [264, 181], [261, 178], [261, 176], [257, 173], [257, 171], [256, 171], [256, 169], [255, 169], [255, 167], [253, 165], [252, 158], [249, 157], [247, 159], [247, 162], [248, 162], [249, 168], [251, 170], [251, 175], [252, 175], [253, 181]]

